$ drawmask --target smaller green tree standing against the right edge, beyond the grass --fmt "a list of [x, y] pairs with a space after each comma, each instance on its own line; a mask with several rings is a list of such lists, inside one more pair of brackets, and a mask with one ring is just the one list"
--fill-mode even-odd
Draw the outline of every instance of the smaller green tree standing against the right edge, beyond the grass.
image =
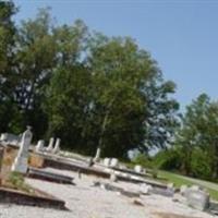
[[[186, 108], [182, 128], [178, 133], [177, 145], [182, 147], [184, 170], [187, 174], [196, 174], [195, 159], [204, 156], [201, 161], [210, 157], [211, 178], [218, 173], [218, 102], [211, 101], [202, 94]], [[194, 169], [193, 169], [194, 166]], [[206, 162], [205, 166], [208, 166]], [[207, 170], [208, 171], [208, 170]], [[207, 175], [208, 177], [208, 175]]]

